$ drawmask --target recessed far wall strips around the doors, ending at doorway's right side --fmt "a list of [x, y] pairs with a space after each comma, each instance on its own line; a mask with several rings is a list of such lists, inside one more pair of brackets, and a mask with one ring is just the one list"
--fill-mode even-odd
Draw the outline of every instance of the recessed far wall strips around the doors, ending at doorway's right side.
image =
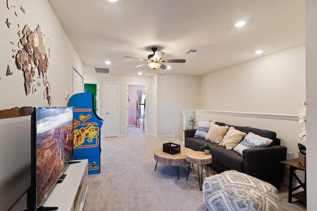
[[[93, 68], [85, 67], [87, 72], [94, 71]], [[94, 71], [95, 72], [95, 71]], [[100, 118], [106, 119], [105, 117], [105, 106], [104, 106], [104, 84], [106, 82], [110, 83], [118, 83], [119, 84], [119, 136], [126, 136], [126, 128], [128, 127], [126, 117], [127, 117], [127, 108], [126, 108], [126, 84], [147, 84], [148, 85], [148, 93], [147, 93], [147, 118], [151, 118], [153, 112], [153, 96], [152, 96], [152, 77], [146, 76], [125, 76], [125, 75], [109, 75], [103, 73], [86, 73], [84, 81], [90, 82], [99, 82], [100, 87]], [[151, 121], [148, 121], [148, 133], [153, 132], [153, 126]], [[101, 129], [101, 136], [105, 137], [105, 124]]]

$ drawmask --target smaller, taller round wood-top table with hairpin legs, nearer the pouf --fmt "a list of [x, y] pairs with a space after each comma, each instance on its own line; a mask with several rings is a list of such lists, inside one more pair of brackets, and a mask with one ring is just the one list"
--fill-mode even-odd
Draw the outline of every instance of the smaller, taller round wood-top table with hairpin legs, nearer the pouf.
[[[188, 152], [186, 154], [186, 161], [189, 163], [188, 171], [187, 171], [187, 179], [186, 180], [188, 180], [188, 174], [189, 174], [190, 165], [191, 164], [197, 164], [197, 167], [198, 167], [198, 179], [199, 179], [199, 189], [202, 190], [202, 188], [203, 188], [203, 165], [205, 165], [206, 175], [209, 176], [208, 167], [206, 165], [210, 164], [212, 162], [211, 154], [206, 155], [205, 152], [200, 152], [200, 151]], [[201, 175], [199, 175], [199, 165], [202, 165]]]

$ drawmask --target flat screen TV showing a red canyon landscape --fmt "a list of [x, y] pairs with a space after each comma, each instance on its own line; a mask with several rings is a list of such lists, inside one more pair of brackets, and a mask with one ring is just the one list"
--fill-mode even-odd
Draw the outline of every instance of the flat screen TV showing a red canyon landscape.
[[35, 107], [31, 115], [29, 211], [44, 208], [47, 197], [73, 156], [73, 107]]

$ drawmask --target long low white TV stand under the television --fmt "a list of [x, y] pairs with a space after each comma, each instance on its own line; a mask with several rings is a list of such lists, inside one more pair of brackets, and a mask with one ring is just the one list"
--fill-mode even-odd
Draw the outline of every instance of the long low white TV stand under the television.
[[88, 187], [88, 160], [68, 165], [66, 177], [57, 183], [43, 207], [58, 207], [58, 211], [82, 211]]

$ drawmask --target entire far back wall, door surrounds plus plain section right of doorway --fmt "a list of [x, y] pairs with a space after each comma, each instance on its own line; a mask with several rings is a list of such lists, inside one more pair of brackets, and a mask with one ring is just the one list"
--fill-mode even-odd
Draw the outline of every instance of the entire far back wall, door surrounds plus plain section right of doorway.
[[[87, 72], [91, 68], [85, 67]], [[200, 77], [198, 76], [176, 76], [157, 75], [153, 77], [124, 76], [108, 74], [85, 74], [85, 81], [95, 81], [101, 84], [105, 82], [119, 83], [119, 136], [125, 136], [127, 128], [125, 108], [125, 85], [126, 84], [147, 84], [148, 85], [148, 110], [147, 124], [148, 134], [154, 136], [175, 136], [182, 139], [182, 112], [183, 108], [194, 109], [199, 107]], [[100, 101], [104, 102], [104, 93], [101, 88]], [[101, 118], [104, 106], [101, 105]], [[104, 136], [104, 125], [102, 136]]]

